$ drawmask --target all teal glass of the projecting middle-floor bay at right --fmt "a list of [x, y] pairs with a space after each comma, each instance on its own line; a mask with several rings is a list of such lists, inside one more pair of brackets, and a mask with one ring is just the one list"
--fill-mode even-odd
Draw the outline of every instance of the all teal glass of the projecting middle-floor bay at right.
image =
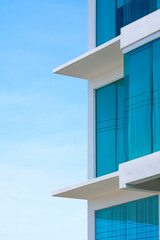
[[160, 150], [160, 39], [125, 55], [125, 161]]

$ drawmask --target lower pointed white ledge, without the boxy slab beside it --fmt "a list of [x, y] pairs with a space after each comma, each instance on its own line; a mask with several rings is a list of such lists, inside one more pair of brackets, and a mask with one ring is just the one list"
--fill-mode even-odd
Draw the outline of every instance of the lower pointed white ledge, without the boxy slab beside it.
[[53, 197], [91, 200], [119, 189], [119, 174], [114, 172], [53, 192]]

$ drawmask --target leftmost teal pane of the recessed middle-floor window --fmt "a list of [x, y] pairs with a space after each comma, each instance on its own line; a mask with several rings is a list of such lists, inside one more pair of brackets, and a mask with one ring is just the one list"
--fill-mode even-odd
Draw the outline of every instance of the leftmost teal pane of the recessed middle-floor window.
[[97, 177], [115, 171], [116, 85], [96, 91]]

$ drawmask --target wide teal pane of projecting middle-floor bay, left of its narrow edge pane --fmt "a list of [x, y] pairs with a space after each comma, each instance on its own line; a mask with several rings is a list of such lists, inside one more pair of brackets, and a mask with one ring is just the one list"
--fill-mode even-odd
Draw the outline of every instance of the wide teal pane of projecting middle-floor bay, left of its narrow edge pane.
[[127, 54], [125, 65], [125, 161], [152, 152], [152, 68], [150, 46]]

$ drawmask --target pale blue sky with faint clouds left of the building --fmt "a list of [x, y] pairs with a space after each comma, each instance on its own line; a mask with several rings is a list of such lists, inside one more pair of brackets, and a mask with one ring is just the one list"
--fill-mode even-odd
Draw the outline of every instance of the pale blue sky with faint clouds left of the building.
[[87, 81], [52, 69], [87, 51], [87, 0], [1, 0], [0, 239], [87, 238]]

